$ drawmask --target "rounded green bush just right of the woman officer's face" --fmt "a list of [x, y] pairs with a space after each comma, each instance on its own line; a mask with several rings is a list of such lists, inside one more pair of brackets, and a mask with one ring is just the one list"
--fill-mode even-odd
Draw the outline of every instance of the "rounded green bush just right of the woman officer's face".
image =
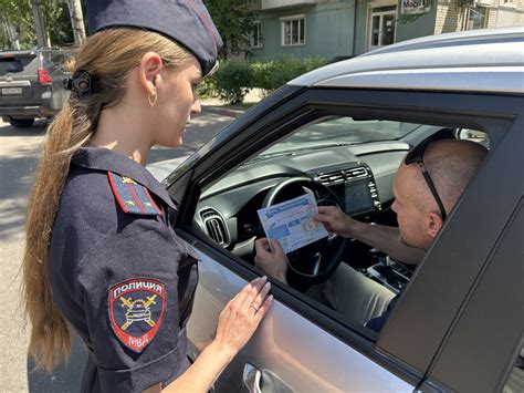
[[230, 104], [241, 103], [252, 87], [251, 69], [244, 61], [222, 62], [211, 79], [217, 95]]

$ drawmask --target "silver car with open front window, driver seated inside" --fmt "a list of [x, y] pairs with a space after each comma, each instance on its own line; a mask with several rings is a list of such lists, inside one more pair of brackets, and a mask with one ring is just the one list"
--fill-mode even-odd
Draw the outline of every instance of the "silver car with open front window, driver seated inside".
[[[272, 280], [272, 309], [214, 391], [524, 391], [523, 59], [517, 28], [327, 65], [264, 99], [166, 179], [174, 226], [201, 259], [188, 325], [196, 358], [228, 300], [263, 273], [258, 209], [306, 188], [396, 226], [392, 179], [411, 146], [448, 128], [490, 149], [417, 269], [337, 238], [295, 258], [290, 286]], [[400, 294], [380, 333], [308, 297], [339, 263]]]

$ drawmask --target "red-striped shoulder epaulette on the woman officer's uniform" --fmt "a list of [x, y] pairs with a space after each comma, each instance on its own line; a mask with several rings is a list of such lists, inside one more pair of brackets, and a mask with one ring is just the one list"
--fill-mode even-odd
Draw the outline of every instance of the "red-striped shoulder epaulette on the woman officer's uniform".
[[130, 177], [120, 176], [113, 172], [108, 172], [107, 175], [109, 177], [111, 189], [124, 213], [146, 216], [163, 214], [157, 204], [155, 204], [155, 200], [153, 200], [149, 190], [142, 184]]

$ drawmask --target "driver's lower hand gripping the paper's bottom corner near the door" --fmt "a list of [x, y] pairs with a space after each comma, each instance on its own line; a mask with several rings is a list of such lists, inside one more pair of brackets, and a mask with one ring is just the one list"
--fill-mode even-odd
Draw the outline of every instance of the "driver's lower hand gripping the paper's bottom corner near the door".
[[[268, 276], [272, 276], [287, 283], [285, 278], [285, 273], [287, 272], [287, 258], [280, 242], [273, 239], [268, 240], [266, 238], [261, 238], [254, 242], [254, 248], [256, 250], [254, 265], [261, 268]], [[273, 251], [271, 251], [271, 248], [273, 248]]]

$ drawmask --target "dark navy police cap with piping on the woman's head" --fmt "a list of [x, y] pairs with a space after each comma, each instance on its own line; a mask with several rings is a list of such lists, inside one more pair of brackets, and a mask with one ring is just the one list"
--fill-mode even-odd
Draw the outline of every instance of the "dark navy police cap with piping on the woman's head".
[[133, 27], [160, 33], [184, 45], [207, 75], [222, 39], [201, 0], [87, 0], [90, 32]]

